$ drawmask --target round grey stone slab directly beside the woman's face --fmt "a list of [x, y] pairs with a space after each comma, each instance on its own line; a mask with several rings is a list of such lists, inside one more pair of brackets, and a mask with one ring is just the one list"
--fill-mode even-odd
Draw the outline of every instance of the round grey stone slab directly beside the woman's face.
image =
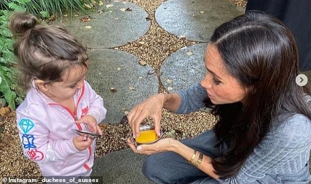
[[207, 43], [203, 43], [181, 48], [163, 61], [160, 79], [167, 91], [187, 88], [204, 78], [206, 46]]

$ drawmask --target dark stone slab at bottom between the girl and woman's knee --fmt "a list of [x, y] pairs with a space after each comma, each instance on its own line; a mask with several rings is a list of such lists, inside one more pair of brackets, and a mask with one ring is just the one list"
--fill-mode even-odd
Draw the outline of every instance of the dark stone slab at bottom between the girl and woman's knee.
[[141, 171], [145, 158], [131, 149], [106, 154], [94, 160], [91, 178], [101, 180], [99, 184], [154, 184]]

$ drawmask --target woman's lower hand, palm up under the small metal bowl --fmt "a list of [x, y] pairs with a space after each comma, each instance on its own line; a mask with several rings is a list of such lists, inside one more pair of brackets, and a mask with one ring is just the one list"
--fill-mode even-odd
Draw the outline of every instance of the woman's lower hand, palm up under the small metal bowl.
[[161, 152], [173, 151], [172, 148], [179, 141], [172, 138], [163, 138], [154, 144], [141, 144], [135, 146], [131, 139], [127, 139], [127, 144], [133, 150], [133, 152], [138, 154], [152, 155]]

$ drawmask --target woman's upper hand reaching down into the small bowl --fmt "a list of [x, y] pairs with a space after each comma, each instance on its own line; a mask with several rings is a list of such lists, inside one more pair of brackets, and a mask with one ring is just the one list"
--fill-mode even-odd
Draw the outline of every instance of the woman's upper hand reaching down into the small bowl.
[[162, 108], [165, 103], [164, 94], [156, 94], [136, 105], [127, 115], [128, 123], [132, 128], [134, 137], [139, 136], [140, 123], [147, 117], [151, 117], [155, 124], [157, 136], [160, 136], [160, 121]]

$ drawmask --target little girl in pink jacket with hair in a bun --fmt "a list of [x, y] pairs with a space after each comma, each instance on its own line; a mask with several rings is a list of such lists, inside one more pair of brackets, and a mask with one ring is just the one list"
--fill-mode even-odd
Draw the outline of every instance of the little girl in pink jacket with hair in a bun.
[[43, 176], [90, 176], [95, 140], [71, 129], [102, 134], [103, 99], [85, 81], [86, 49], [66, 30], [37, 25], [36, 17], [13, 14], [21, 82], [28, 90], [17, 108], [24, 155], [38, 163]]

